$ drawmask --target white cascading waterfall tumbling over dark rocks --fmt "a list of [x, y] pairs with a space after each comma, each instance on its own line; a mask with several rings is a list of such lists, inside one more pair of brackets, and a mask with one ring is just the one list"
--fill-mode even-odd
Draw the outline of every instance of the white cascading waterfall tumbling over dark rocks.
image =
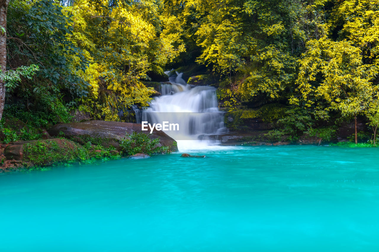
[[177, 141], [179, 151], [217, 145], [215, 134], [228, 130], [223, 113], [218, 109], [216, 89], [189, 85], [182, 79], [182, 73], [170, 76], [169, 80], [161, 84], [162, 96], [154, 98], [150, 107], [143, 109], [141, 121], [179, 124], [179, 131], [164, 130]]

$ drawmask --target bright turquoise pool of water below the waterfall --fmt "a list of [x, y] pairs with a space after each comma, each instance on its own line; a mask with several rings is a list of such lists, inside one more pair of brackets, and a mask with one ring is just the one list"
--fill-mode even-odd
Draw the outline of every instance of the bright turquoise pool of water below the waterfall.
[[0, 251], [379, 251], [379, 149], [257, 146], [0, 174]]

